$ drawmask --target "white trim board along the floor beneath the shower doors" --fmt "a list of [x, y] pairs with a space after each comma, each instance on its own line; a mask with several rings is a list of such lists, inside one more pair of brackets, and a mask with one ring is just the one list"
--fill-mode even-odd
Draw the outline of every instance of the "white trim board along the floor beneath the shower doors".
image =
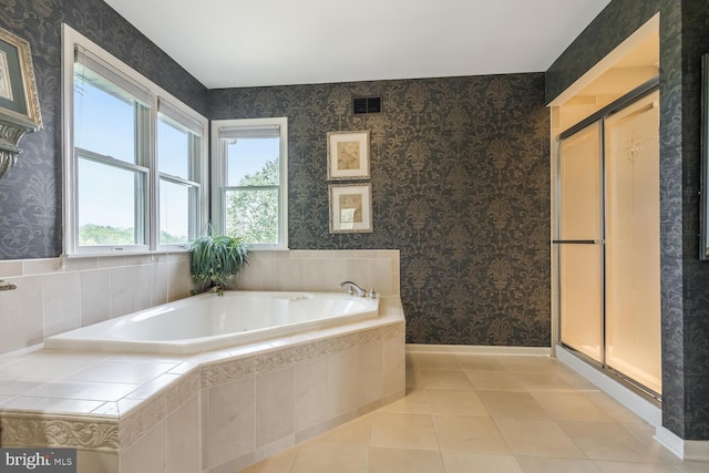
[[662, 424], [662, 410], [649, 400], [638, 395], [613, 378], [598, 371], [562, 346], [556, 347], [556, 358], [592, 384], [633, 411], [645, 422], [657, 428]]

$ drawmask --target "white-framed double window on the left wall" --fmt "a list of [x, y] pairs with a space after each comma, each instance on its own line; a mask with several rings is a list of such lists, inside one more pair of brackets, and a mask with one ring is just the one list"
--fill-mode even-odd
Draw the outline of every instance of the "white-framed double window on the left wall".
[[206, 217], [207, 121], [64, 25], [64, 253], [173, 250]]

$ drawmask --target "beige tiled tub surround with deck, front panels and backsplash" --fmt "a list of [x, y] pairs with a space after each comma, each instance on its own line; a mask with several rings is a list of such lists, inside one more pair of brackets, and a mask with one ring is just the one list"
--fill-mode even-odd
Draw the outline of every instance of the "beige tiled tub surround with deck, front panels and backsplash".
[[[188, 278], [188, 260], [169, 258], [184, 270], [171, 277]], [[97, 258], [95, 264], [107, 261]], [[133, 263], [127, 257], [115, 261]], [[0, 301], [1, 315], [11, 309], [16, 317], [8, 320], [20, 319], [18, 307], [24, 304], [44, 320], [51, 304], [44, 277], [78, 273], [71, 277], [81, 282], [84, 271], [97, 270], [93, 258], [69, 260], [64, 267], [59, 263], [0, 261], [6, 275], [8, 268], [47, 269], [13, 277], [23, 285], [24, 277], [40, 278], [35, 289], [41, 290], [13, 305]], [[343, 279], [378, 290], [379, 318], [193, 357], [39, 347], [6, 353], [0, 357], [0, 445], [75, 446], [79, 472], [232, 473], [399, 399], [404, 394], [405, 329], [398, 251], [254, 253], [239, 287], [333, 290]], [[75, 290], [83, 300], [81, 286]]]

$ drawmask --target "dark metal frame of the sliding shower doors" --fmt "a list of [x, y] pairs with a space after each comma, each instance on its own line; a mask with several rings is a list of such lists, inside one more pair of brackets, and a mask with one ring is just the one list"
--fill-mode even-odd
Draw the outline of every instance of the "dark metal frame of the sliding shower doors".
[[[556, 218], [556, 232], [554, 235], [554, 238], [552, 239], [552, 244], [554, 246], [554, 251], [556, 254], [556, 276], [554, 278], [555, 280], [555, 285], [556, 285], [556, 308], [557, 308], [557, 312], [556, 312], [556, 327], [557, 329], [555, 330], [556, 333], [556, 345], [559, 345], [562, 347], [564, 347], [566, 350], [571, 351], [574, 356], [576, 356], [577, 358], [579, 358], [580, 360], [585, 361], [586, 363], [595, 367], [596, 369], [598, 369], [602, 372], [605, 372], [607, 374], [613, 376], [616, 380], [620, 381], [624, 385], [626, 385], [627, 388], [630, 388], [633, 391], [638, 392], [640, 394], [643, 394], [646, 398], [649, 398], [651, 400], [661, 402], [662, 397], [660, 393], [657, 393], [655, 391], [653, 391], [651, 389], [645, 387], [644, 384], [639, 383], [638, 381], [634, 380], [633, 378], [623, 374], [621, 372], [617, 371], [616, 369], [612, 368], [608, 366], [607, 363], [607, 354], [606, 354], [606, 313], [607, 313], [607, 308], [606, 308], [606, 206], [607, 206], [607, 198], [606, 198], [606, 143], [605, 143], [605, 135], [606, 135], [606, 119], [609, 117], [610, 115], [623, 111], [624, 109], [633, 105], [635, 102], [638, 102], [639, 100], [644, 99], [645, 96], [656, 92], [659, 90], [659, 76], [656, 76], [647, 82], [645, 82], [644, 84], [641, 84], [640, 86], [634, 89], [633, 91], [628, 92], [627, 94], [620, 96], [619, 99], [615, 100], [614, 102], [612, 102], [610, 104], [604, 106], [603, 109], [598, 110], [597, 112], [593, 113], [592, 115], [589, 115], [588, 117], [582, 120], [580, 122], [578, 122], [577, 124], [571, 126], [569, 128], [563, 131], [562, 133], [559, 133], [556, 136], [556, 146], [557, 146], [557, 153], [556, 153], [556, 173], [554, 176], [555, 183], [556, 183], [556, 188], [555, 188], [555, 193], [556, 193], [556, 202], [557, 202], [557, 206], [556, 206], [556, 212], [555, 212], [555, 218]], [[562, 153], [561, 153], [561, 144], [564, 140], [572, 137], [573, 135], [575, 135], [576, 133], [579, 133], [582, 131], [584, 131], [585, 128], [594, 125], [594, 124], [598, 124], [599, 127], [599, 150], [600, 150], [600, 168], [599, 168], [599, 173], [600, 173], [600, 237], [598, 240], [596, 239], [579, 239], [579, 240], [565, 240], [565, 239], [561, 239], [561, 232], [562, 232], [562, 212], [561, 212], [561, 205], [562, 205], [562, 200], [561, 200], [561, 196], [562, 196], [562, 183], [561, 183], [561, 177], [562, 177], [562, 173], [561, 173], [561, 166], [562, 166]], [[580, 352], [579, 350], [575, 349], [574, 347], [571, 347], [566, 343], [564, 343], [564, 341], [562, 340], [562, 285], [563, 281], [561, 280], [561, 275], [562, 275], [562, 260], [561, 260], [561, 253], [562, 253], [562, 245], [602, 245], [602, 251], [600, 251], [600, 270], [602, 270], [602, 275], [600, 275], [600, 289], [602, 289], [602, 294], [600, 294], [600, 361], [597, 361], [595, 359], [593, 359], [592, 357]]]

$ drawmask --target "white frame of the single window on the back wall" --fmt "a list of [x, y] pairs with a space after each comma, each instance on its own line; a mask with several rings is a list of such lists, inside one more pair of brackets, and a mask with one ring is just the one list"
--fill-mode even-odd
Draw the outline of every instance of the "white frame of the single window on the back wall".
[[276, 244], [251, 244], [246, 241], [249, 250], [288, 249], [288, 119], [234, 119], [212, 121], [212, 227], [215, 233], [226, 229], [226, 194], [239, 186], [227, 185], [227, 146], [222, 142], [219, 132], [257, 131], [278, 128], [280, 155], [278, 160], [280, 183], [278, 187], [278, 241]]

